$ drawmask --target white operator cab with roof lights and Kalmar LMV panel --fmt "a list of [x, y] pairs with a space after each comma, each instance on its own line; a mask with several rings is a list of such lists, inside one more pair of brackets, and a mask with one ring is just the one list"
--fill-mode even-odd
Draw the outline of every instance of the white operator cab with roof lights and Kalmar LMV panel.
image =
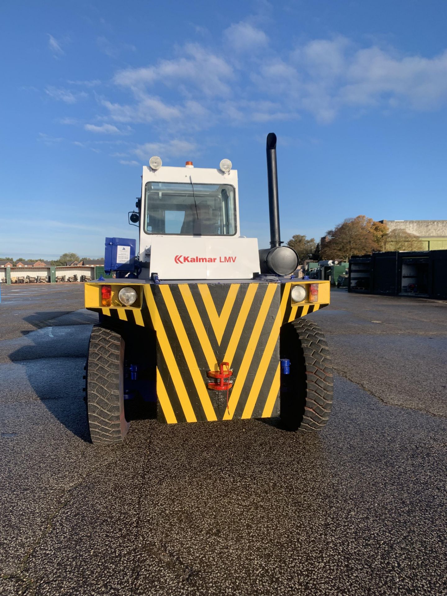
[[[142, 175], [139, 259], [142, 279], [251, 280], [257, 238], [241, 237], [237, 170], [167, 167], [151, 157]], [[224, 171], [225, 170], [225, 171]]]

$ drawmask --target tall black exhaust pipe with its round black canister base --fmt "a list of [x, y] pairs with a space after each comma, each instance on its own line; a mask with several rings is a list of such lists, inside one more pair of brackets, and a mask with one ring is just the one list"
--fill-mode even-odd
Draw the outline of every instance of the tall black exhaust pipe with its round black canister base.
[[280, 204], [278, 201], [277, 135], [267, 135], [267, 179], [269, 190], [270, 248], [259, 250], [262, 274], [291, 275], [299, 264], [296, 252], [289, 246], [281, 246]]

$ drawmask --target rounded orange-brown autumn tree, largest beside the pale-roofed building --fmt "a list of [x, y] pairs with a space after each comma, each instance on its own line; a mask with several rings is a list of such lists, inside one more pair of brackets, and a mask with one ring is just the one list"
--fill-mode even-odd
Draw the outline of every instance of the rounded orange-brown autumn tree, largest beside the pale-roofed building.
[[328, 240], [321, 247], [323, 259], [348, 261], [353, 254], [367, 254], [380, 250], [377, 237], [380, 230], [375, 222], [365, 215], [347, 218], [327, 232]]

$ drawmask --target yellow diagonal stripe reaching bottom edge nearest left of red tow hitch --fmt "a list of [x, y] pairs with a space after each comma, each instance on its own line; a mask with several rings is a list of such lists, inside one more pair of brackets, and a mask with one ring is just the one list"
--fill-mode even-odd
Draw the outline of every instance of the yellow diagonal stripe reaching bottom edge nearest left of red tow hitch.
[[208, 389], [203, 378], [203, 373], [201, 373], [200, 369], [197, 366], [197, 361], [195, 360], [190, 340], [188, 339], [185, 327], [183, 325], [181, 316], [179, 315], [175, 300], [172, 297], [172, 292], [170, 291], [169, 285], [160, 285], [160, 292], [162, 293], [164, 303], [166, 304], [167, 311], [169, 312], [169, 316], [172, 321], [172, 325], [175, 329], [185, 359], [188, 363], [188, 368], [190, 370], [191, 377], [193, 377], [195, 389], [197, 389], [198, 398], [200, 399], [203, 411], [205, 412], [206, 419], [209, 421], [217, 420], [216, 413], [213, 409], [210, 395], [208, 393]]

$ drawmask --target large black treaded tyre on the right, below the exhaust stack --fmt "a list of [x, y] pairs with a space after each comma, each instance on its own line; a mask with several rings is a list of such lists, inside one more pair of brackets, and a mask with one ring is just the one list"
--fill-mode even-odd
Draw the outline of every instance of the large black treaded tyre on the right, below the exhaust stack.
[[288, 430], [322, 430], [334, 393], [324, 334], [315, 322], [296, 319], [281, 327], [280, 352], [281, 358], [290, 360], [290, 374], [281, 374], [281, 421]]

